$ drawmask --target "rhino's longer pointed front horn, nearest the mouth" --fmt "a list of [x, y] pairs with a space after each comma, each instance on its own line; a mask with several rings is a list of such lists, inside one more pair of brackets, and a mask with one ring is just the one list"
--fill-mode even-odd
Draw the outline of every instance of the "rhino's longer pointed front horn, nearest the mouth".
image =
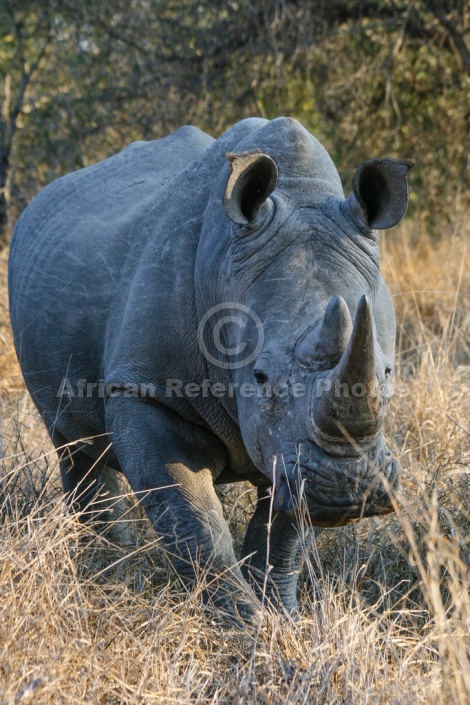
[[330, 450], [338, 444], [363, 447], [380, 432], [383, 414], [372, 311], [363, 296], [344, 354], [317, 384], [313, 404], [315, 440]]

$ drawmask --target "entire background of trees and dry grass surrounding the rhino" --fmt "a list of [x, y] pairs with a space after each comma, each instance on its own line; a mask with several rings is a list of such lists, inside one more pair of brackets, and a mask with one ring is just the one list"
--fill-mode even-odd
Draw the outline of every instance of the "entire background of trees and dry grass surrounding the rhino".
[[[0, 0], [0, 70], [0, 702], [470, 702], [468, 4]], [[127, 547], [65, 510], [12, 347], [7, 242], [42, 186], [131, 140], [281, 114], [346, 190], [364, 159], [416, 160], [381, 236], [404, 494], [317, 532], [297, 621], [236, 629], [184, 593], [138, 509]], [[225, 495], [240, 542], [250, 488]]]

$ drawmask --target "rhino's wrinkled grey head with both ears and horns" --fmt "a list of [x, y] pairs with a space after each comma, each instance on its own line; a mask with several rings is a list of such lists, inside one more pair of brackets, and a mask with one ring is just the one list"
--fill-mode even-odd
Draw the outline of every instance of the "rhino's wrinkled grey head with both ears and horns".
[[223, 196], [230, 254], [219, 277], [247, 312], [227, 319], [226, 347], [256, 353], [231, 369], [243, 441], [275, 510], [304, 506], [323, 526], [386, 514], [401, 468], [383, 434], [395, 315], [376, 230], [404, 215], [411, 165], [365, 162], [346, 199], [298, 123], [278, 123], [265, 144], [227, 155]]

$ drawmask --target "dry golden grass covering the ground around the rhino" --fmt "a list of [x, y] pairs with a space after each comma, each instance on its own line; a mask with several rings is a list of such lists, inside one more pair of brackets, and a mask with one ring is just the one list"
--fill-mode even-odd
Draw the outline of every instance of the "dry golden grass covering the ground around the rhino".
[[[470, 702], [467, 239], [460, 222], [435, 242], [405, 226], [383, 243], [400, 332], [388, 436], [405, 492], [390, 518], [318, 532], [296, 622], [228, 628], [184, 593], [137, 511], [126, 549], [65, 511], [5, 314], [0, 701]], [[5, 306], [4, 278], [0, 294]], [[227, 497], [238, 538], [239, 496]]]

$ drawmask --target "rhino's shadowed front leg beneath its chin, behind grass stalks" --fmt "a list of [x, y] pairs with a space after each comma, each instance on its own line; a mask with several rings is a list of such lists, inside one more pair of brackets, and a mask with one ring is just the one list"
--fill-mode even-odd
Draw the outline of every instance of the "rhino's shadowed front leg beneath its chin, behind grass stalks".
[[297, 581], [302, 556], [313, 538], [311, 528], [271, 507], [268, 488], [258, 488], [258, 502], [243, 544], [243, 575], [274, 604], [289, 612], [297, 606]]

